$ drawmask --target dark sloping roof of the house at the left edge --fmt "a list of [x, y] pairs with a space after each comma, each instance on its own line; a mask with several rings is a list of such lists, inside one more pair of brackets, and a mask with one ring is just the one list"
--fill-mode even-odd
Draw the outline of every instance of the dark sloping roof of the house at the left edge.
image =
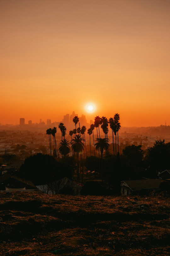
[[0, 177], [0, 190], [5, 190], [5, 187], [37, 189], [37, 187], [30, 180], [14, 176], [12, 174], [3, 174]]

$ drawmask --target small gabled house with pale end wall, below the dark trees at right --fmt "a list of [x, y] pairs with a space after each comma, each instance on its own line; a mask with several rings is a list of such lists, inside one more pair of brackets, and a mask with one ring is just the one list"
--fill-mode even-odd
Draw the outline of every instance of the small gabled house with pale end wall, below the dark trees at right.
[[121, 195], [147, 195], [159, 190], [162, 180], [123, 180], [121, 181]]

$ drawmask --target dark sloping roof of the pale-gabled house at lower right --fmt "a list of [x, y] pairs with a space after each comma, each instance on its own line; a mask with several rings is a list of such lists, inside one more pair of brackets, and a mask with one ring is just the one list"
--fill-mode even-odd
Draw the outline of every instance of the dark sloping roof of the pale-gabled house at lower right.
[[121, 182], [121, 185], [123, 185], [123, 182], [125, 182], [131, 190], [142, 190], [142, 189], [159, 188], [160, 182], [162, 182], [162, 180], [160, 179], [123, 180]]

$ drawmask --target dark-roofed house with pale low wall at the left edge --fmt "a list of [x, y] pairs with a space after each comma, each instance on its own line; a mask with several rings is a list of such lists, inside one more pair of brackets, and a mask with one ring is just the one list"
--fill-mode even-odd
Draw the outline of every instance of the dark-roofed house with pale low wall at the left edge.
[[0, 177], [0, 192], [37, 191], [37, 187], [30, 181], [12, 174]]

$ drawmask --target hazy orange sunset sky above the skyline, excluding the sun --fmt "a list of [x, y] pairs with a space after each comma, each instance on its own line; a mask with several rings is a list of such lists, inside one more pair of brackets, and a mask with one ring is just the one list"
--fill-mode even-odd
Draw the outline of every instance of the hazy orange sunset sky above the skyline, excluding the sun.
[[0, 0], [0, 17], [1, 124], [170, 124], [169, 0]]

